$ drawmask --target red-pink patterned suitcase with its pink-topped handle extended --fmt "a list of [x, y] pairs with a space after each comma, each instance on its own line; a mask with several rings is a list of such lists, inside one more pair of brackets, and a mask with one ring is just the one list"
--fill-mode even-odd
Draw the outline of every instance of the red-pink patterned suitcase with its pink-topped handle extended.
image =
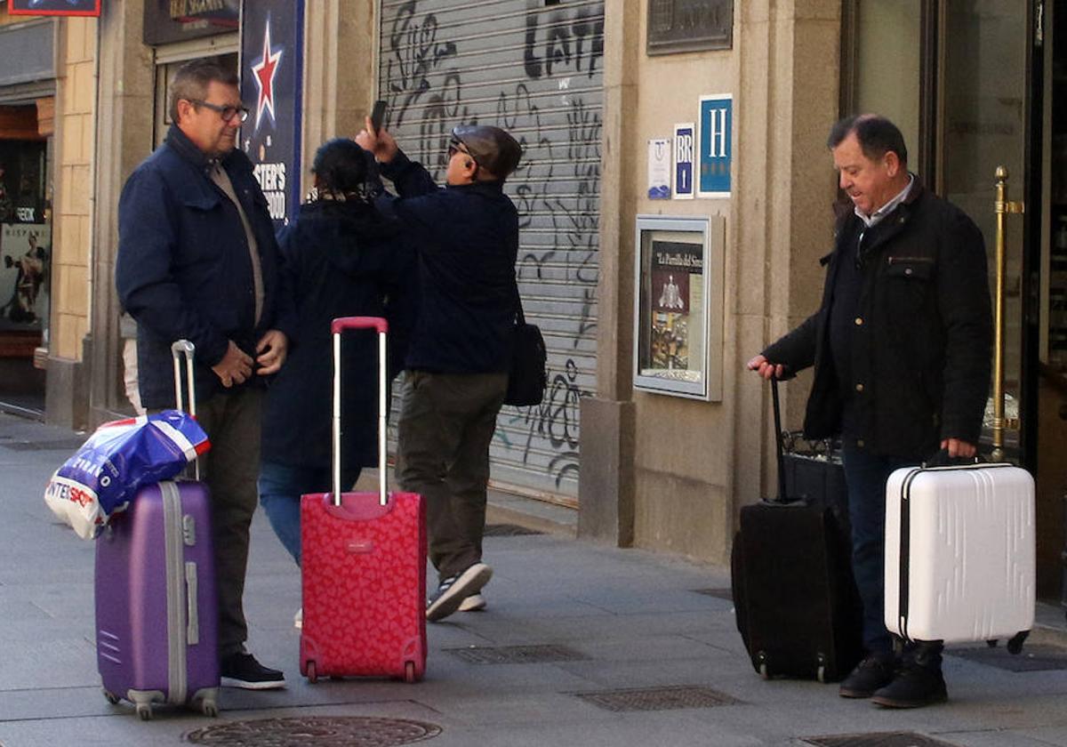
[[[340, 337], [346, 330], [379, 335], [378, 493], [340, 486]], [[333, 492], [300, 505], [304, 619], [300, 673], [392, 677], [426, 671], [426, 509], [414, 493], [385, 489], [385, 334], [378, 317], [333, 322]]]

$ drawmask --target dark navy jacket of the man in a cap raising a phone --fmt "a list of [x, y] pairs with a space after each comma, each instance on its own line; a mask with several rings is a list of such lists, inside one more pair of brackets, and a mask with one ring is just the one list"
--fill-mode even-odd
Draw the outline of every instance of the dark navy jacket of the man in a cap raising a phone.
[[421, 307], [407, 367], [437, 374], [507, 372], [514, 331], [519, 213], [500, 181], [439, 188], [402, 153], [382, 165], [397, 217], [419, 259]]

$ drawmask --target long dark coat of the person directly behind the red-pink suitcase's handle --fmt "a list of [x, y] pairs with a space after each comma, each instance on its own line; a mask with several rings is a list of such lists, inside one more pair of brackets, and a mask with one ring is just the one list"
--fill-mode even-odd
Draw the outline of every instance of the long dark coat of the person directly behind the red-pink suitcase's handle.
[[[371, 206], [328, 200], [301, 205], [278, 243], [283, 287], [293, 295], [297, 323], [285, 365], [267, 391], [262, 458], [324, 468], [332, 448], [330, 322], [386, 317], [394, 359], [402, 360], [416, 311], [415, 253], [399, 226], [385, 223]], [[377, 464], [378, 335], [345, 333], [341, 371], [343, 464]]]

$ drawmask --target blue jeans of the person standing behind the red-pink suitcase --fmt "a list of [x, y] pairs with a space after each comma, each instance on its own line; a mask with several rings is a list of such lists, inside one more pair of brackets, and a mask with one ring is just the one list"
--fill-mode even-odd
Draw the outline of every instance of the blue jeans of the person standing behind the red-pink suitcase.
[[[340, 483], [348, 490], [360, 479], [361, 467], [343, 470]], [[264, 461], [259, 465], [259, 503], [274, 534], [300, 565], [300, 496], [333, 490], [331, 467], [301, 467]]]

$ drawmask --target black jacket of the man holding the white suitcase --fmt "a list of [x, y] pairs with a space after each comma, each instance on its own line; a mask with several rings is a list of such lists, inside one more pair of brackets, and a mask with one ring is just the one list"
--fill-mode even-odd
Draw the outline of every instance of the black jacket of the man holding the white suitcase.
[[[855, 436], [872, 454], [917, 460], [930, 457], [942, 439], [977, 444], [992, 351], [982, 233], [918, 179], [882, 223], [863, 243], [853, 381], [844, 382], [854, 393]], [[805, 417], [809, 438], [833, 435], [841, 426], [830, 306], [842, 248], [855, 245], [861, 228], [851, 209], [842, 211], [822, 307], [763, 353], [793, 371], [815, 366]]]

